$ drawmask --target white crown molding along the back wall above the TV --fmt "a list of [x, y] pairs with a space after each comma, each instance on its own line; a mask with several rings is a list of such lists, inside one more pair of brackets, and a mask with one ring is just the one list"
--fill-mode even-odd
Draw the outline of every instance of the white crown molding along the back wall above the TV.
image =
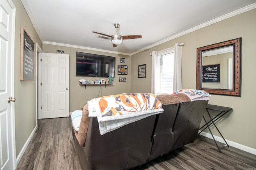
[[56, 43], [56, 42], [47, 42], [47, 41], [44, 41], [43, 43], [44, 44], [50, 44], [50, 45], [59, 45], [59, 46], [64, 46], [64, 47], [87, 49], [87, 50], [92, 50], [92, 51], [100, 51], [100, 52], [105, 52], [105, 53], [114, 53], [114, 54], [121, 54], [121, 55], [129, 55], [130, 56], [129, 53], [121, 53], [121, 52], [117, 52], [117, 51], [110, 51], [110, 50], [91, 48], [91, 47], [84, 47], [84, 46], [78, 46], [78, 45], [70, 45], [70, 44], [65, 44], [65, 43]]

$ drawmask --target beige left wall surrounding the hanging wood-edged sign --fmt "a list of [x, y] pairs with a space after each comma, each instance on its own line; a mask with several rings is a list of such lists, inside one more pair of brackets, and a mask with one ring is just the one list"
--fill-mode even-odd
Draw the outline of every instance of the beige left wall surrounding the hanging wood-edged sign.
[[[32, 22], [20, 0], [13, 0], [16, 7], [15, 49], [14, 49], [14, 95], [16, 156], [36, 127], [36, 81], [20, 81], [20, 27], [23, 27], [34, 43], [42, 47]], [[36, 46], [36, 45], [35, 45]]]

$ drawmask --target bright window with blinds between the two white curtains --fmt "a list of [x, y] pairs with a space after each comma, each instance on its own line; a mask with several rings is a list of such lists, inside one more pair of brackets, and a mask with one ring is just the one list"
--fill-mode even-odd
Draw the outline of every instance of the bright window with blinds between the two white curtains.
[[155, 93], [172, 94], [174, 78], [174, 48], [157, 55]]

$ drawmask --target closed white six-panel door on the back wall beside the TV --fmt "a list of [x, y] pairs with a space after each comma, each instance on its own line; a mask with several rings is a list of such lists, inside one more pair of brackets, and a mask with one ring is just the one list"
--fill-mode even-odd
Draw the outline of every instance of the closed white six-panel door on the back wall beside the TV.
[[69, 117], [69, 55], [42, 53], [42, 119]]

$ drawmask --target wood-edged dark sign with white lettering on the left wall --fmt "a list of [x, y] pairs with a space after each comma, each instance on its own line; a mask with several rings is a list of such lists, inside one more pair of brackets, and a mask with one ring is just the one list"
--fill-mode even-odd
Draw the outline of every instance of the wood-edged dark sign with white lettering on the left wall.
[[20, 80], [34, 81], [34, 42], [20, 28]]

